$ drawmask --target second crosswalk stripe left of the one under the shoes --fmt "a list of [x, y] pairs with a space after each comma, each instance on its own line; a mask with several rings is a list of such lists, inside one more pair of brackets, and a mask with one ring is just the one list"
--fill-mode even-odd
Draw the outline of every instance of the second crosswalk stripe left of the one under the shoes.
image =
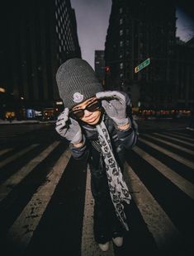
[[17, 171], [17, 173], [14, 173], [10, 178], [8, 178], [5, 183], [2, 183], [0, 187], [0, 202], [7, 197], [12, 189], [16, 187], [18, 183], [21, 183], [22, 179], [24, 179], [28, 173], [31, 173], [31, 170], [40, 164], [40, 162], [43, 161], [57, 145], [59, 145], [59, 141], [54, 141], [52, 145], [47, 147], [28, 164]]

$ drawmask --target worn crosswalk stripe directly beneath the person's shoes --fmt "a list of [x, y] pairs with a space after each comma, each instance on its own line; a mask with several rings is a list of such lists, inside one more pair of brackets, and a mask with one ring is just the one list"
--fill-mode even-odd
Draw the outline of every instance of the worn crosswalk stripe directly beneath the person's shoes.
[[90, 187], [90, 170], [87, 171], [86, 196], [83, 215], [83, 235], [81, 256], [114, 256], [112, 243], [106, 252], [102, 252], [93, 237], [93, 206], [94, 200]]

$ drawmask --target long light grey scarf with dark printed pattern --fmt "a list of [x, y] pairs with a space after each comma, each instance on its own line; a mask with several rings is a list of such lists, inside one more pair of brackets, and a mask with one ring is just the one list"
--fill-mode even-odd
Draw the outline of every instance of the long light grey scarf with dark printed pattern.
[[116, 163], [116, 159], [111, 148], [110, 136], [108, 134], [104, 121], [97, 125], [97, 132], [99, 144], [101, 146], [101, 151], [106, 166], [106, 176], [108, 180], [111, 201], [115, 206], [116, 216], [124, 225], [125, 230], [129, 230], [129, 227], [126, 223], [124, 205], [122, 204], [122, 202], [125, 201], [127, 204], [130, 203], [130, 192], [123, 179], [121, 168]]

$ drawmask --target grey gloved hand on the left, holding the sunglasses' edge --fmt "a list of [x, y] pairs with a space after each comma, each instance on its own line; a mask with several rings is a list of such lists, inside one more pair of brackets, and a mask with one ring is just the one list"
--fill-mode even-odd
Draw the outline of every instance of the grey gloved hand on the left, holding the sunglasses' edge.
[[56, 121], [55, 130], [62, 137], [69, 140], [72, 144], [78, 144], [82, 141], [82, 130], [73, 118], [69, 117], [69, 109], [65, 108], [64, 111], [58, 116]]

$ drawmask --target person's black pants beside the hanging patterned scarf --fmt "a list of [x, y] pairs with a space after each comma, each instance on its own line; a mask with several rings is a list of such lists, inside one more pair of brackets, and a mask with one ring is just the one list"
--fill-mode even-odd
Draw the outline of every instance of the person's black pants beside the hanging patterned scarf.
[[97, 243], [106, 243], [123, 234], [120, 220], [112, 204], [102, 155], [92, 149], [90, 161], [91, 190], [94, 198], [93, 230]]

